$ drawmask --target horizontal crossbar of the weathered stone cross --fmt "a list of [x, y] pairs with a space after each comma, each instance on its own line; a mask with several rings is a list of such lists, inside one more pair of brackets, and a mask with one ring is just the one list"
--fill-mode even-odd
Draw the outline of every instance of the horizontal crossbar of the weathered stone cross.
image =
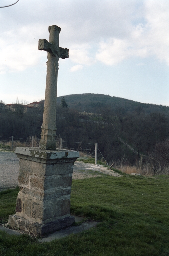
[[69, 58], [69, 49], [56, 47], [54, 44], [49, 43], [46, 39], [39, 39], [38, 50], [52, 53], [61, 59]]

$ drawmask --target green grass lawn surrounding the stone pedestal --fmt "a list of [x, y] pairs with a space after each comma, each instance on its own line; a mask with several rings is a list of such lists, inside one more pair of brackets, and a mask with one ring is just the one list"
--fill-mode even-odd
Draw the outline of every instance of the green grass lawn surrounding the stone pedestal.
[[[18, 189], [0, 193], [0, 221], [15, 213]], [[169, 176], [73, 180], [71, 213], [95, 228], [50, 243], [0, 231], [1, 256], [169, 256]]]

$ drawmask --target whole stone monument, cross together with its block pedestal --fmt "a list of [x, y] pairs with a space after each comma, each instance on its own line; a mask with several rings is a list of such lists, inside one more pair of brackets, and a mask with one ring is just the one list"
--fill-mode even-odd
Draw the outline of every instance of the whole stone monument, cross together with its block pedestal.
[[48, 52], [45, 106], [40, 147], [17, 147], [19, 188], [16, 213], [9, 216], [13, 228], [41, 236], [75, 222], [70, 215], [73, 163], [79, 152], [56, 150], [56, 92], [59, 58], [68, 58], [68, 49], [59, 47], [57, 26], [49, 27], [49, 42], [39, 40], [39, 50]]

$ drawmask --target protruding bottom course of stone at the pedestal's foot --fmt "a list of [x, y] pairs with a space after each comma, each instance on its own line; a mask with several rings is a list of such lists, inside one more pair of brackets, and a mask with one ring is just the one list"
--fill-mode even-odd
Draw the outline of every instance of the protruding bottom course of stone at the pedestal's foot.
[[24, 231], [28, 231], [34, 235], [43, 235], [45, 233], [54, 232], [62, 228], [69, 227], [75, 222], [73, 216], [69, 216], [63, 219], [48, 222], [47, 224], [41, 224], [39, 222], [30, 222], [24, 217], [20, 217], [16, 214], [9, 215], [8, 223], [12, 228], [19, 228]]

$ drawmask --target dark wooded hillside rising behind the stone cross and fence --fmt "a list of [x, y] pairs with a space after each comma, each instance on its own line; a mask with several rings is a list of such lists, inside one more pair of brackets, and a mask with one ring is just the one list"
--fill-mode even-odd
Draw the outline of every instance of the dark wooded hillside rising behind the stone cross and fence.
[[[123, 159], [125, 164], [135, 164], [142, 154], [155, 159], [155, 165], [169, 165], [169, 107], [102, 94], [64, 97], [68, 108], [60, 103], [63, 97], [58, 97], [56, 127], [57, 136], [67, 141], [65, 147], [94, 150], [90, 144], [69, 142], [97, 142], [109, 163]], [[0, 136], [26, 139], [36, 134], [40, 139], [42, 120], [43, 111], [38, 114], [23, 113], [21, 108], [15, 112], [3, 110]]]

